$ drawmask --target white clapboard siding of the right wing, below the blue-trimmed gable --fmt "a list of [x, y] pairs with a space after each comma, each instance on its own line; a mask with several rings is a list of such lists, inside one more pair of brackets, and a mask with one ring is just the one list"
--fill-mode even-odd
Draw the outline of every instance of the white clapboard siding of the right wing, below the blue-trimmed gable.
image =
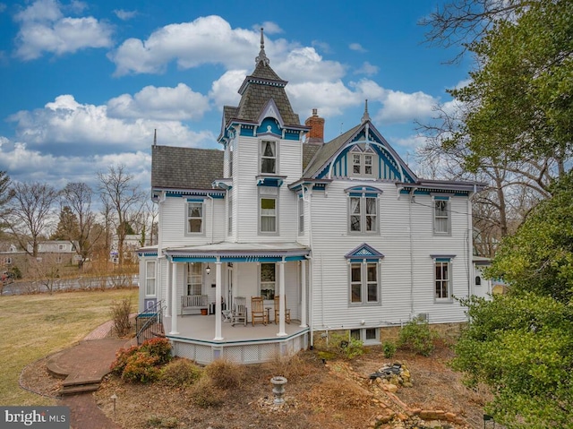
[[[467, 199], [450, 199], [451, 236], [433, 236], [430, 195], [416, 195], [413, 204], [407, 195], [398, 198], [395, 184], [369, 182], [368, 185], [383, 191], [379, 201], [380, 234], [351, 235], [347, 231], [348, 202], [344, 190], [359, 184], [358, 181], [335, 181], [329, 185], [328, 194], [315, 192], [312, 195], [312, 322], [315, 329], [358, 328], [361, 321], [369, 326], [384, 326], [407, 322], [416, 313], [430, 313], [431, 322], [465, 320], [463, 309], [456, 301], [434, 302], [431, 255], [456, 255], [452, 260], [454, 295], [467, 295]], [[352, 307], [348, 305], [348, 266], [344, 255], [363, 243], [384, 254], [380, 272], [381, 305]]]

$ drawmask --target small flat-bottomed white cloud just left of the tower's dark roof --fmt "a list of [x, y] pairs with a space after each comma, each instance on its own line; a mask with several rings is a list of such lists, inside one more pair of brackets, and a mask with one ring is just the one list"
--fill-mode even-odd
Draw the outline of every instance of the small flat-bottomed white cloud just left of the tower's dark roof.
[[107, 102], [107, 115], [118, 118], [196, 121], [209, 109], [209, 99], [184, 83], [175, 88], [147, 86], [133, 97], [123, 94]]

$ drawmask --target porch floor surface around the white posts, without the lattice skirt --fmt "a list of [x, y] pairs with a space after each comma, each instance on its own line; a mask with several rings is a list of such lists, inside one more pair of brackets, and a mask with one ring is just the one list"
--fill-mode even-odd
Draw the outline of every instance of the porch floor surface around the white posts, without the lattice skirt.
[[257, 342], [261, 340], [280, 340], [308, 330], [308, 328], [302, 328], [300, 326], [300, 321], [292, 320], [290, 323], [285, 323], [286, 336], [278, 337], [278, 324], [275, 324], [275, 322], [272, 321], [266, 326], [261, 323], [256, 323], [254, 326], [252, 326], [251, 322], [248, 322], [246, 326], [244, 326], [243, 323], [237, 323], [235, 326], [232, 326], [230, 322], [221, 322], [221, 334], [223, 340], [214, 341], [215, 317], [217, 317], [214, 314], [207, 316], [203, 316], [201, 314], [192, 314], [176, 317], [177, 330], [179, 333], [175, 335], [170, 334], [171, 317], [164, 317], [163, 325], [167, 337], [177, 339], [190, 339], [209, 343], [213, 342], [218, 344], [250, 341]]

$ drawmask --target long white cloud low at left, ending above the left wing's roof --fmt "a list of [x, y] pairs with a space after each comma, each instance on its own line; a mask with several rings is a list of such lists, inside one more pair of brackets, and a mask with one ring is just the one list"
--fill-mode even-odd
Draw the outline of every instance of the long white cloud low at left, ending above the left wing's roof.
[[107, 106], [80, 104], [71, 95], [61, 95], [43, 109], [24, 110], [8, 119], [16, 123], [21, 142], [55, 154], [141, 150], [151, 145], [155, 129], [161, 144], [208, 146], [215, 142], [211, 132], [193, 132], [179, 121], [109, 117]]

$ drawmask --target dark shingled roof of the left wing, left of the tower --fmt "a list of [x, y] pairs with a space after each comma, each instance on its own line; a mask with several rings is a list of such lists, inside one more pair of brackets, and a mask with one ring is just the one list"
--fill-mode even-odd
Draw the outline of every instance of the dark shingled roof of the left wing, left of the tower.
[[223, 151], [151, 146], [151, 187], [211, 189], [223, 177]]

